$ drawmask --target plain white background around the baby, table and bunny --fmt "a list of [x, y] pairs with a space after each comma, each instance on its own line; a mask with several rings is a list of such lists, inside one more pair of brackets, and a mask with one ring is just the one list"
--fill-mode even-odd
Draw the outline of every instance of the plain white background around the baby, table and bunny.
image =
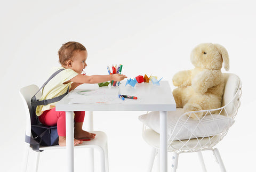
[[[41, 86], [57, 52], [68, 41], [89, 53], [87, 75], [106, 75], [123, 64], [129, 78], [164, 77], [193, 68], [199, 43], [225, 46], [230, 71], [242, 79], [242, 105], [228, 135], [217, 145], [227, 171], [252, 171], [255, 162], [255, 40], [253, 1], [1, 1], [0, 171], [20, 171], [25, 135], [23, 86]], [[226, 72], [223, 70], [223, 72]], [[145, 112], [94, 112], [94, 129], [108, 135], [110, 171], [146, 171], [150, 146], [141, 137]], [[75, 152], [76, 171], [86, 171], [84, 150]], [[218, 171], [210, 152], [206, 168]], [[33, 157], [33, 154], [31, 155]], [[32, 162], [31, 162], [32, 163]], [[65, 151], [43, 152], [39, 171], [63, 171]], [[181, 154], [178, 171], [200, 171], [197, 154]]]

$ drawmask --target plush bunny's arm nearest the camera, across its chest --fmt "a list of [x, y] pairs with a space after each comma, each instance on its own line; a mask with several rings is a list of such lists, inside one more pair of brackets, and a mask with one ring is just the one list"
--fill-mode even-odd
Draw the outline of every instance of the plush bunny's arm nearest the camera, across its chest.
[[220, 84], [216, 78], [221, 78], [220, 71], [203, 70], [193, 78], [191, 85], [196, 93], [204, 94], [208, 88]]

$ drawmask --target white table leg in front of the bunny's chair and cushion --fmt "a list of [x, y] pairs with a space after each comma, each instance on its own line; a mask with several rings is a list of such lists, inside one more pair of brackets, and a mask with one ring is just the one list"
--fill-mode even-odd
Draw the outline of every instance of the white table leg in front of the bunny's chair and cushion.
[[167, 172], [167, 111], [160, 111], [160, 171]]

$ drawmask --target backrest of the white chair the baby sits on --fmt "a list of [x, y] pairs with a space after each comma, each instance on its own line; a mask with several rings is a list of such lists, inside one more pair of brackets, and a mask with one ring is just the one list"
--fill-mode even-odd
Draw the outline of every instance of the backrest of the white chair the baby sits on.
[[[25, 107], [25, 112], [26, 112], [26, 135], [30, 136], [31, 134], [31, 124], [34, 125], [36, 124], [37, 117], [33, 117], [31, 113], [31, 97], [34, 96], [34, 94], [38, 91], [38, 86], [36, 85], [29, 85], [26, 87], [23, 87], [20, 89], [20, 96], [23, 101], [23, 105]], [[41, 92], [38, 92], [36, 94], [36, 97], [41, 97]]]

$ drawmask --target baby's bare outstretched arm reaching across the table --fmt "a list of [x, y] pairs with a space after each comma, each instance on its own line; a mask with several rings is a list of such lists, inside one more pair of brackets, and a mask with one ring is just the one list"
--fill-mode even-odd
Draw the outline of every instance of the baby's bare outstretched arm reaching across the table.
[[75, 76], [74, 78], [70, 79], [69, 81], [74, 83], [80, 83], [80, 84], [97, 84], [97, 83], [103, 83], [106, 81], [114, 80], [114, 81], [121, 81], [124, 78], [127, 78], [125, 75], [121, 74], [114, 74], [114, 75], [82, 75], [79, 74]]

